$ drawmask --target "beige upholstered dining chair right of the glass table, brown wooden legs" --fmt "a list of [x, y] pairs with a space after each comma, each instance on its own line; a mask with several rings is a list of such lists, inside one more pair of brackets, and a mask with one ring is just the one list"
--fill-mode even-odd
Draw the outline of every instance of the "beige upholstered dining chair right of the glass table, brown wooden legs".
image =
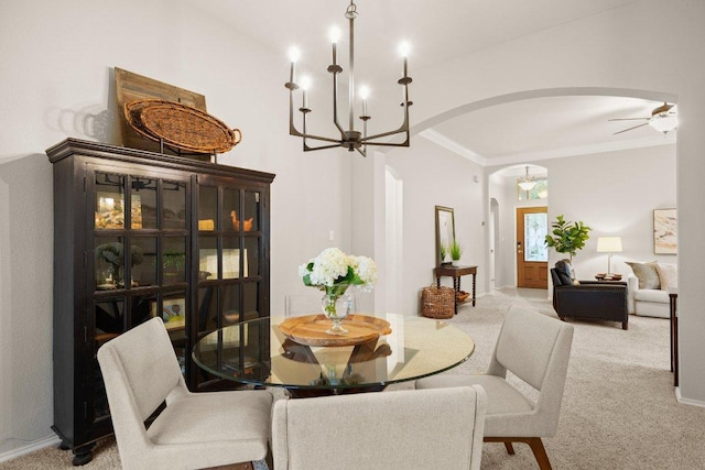
[[[512, 307], [505, 317], [484, 375], [440, 374], [416, 389], [481, 385], [487, 392], [485, 442], [525, 442], [542, 470], [551, 469], [542, 437], [555, 436], [573, 343], [573, 326], [533, 310]], [[507, 382], [507, 371], [538, 391], [534, 401]]]

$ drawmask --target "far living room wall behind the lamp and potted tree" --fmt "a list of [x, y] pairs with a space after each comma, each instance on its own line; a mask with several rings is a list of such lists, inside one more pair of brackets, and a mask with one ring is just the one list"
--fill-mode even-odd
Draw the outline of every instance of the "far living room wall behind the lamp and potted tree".
[[[612, 255], [611, 265], [612, 272], [625, 276], [630, 272], [625, 261], [676, 262], [675, 255], [653, 253], [653, 209], [676, 207], [675, 144], [534, 163], [547, 168], [549, 222], [563, 215], [566, 220], [582, 220], [593, 229], [585, 248], [573, 259], [578, 278], [590, 280], [607, 271], [607, 255], [596, 251], [598, 237], [621, 237], [623, 251]], [[500, 192], [500, 197], [513, 198], [502, 205], [502, 220], [511, 222], [502, 232], [511, 240], [509, 253], [513, 249], [514, 209], [524, 204], [517, 201], [516, 177], [494, 175], [492, 181], [498, 181], [491, 187]], [[502, 182], [509, 192], [502, 190]], [[563, 258], [566, 256], [549, 250], [550, 266]], [[513, 275], [514, 271], [513, 258], [505, 258], [502, 272]], [[516, 276], [512, 280], [509, 285], [516, 285]]]

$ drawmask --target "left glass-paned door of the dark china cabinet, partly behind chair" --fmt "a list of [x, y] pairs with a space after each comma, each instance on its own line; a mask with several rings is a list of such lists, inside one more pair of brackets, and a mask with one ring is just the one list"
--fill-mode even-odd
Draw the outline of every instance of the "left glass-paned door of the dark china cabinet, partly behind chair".
[[[139, 173], [88, 172], [93, 207], [95, 351], [152, 317], [166, 326], [186, 374], [189, 182]], [[94, 361], [95, 419], [109, 416], [100, 369]]]

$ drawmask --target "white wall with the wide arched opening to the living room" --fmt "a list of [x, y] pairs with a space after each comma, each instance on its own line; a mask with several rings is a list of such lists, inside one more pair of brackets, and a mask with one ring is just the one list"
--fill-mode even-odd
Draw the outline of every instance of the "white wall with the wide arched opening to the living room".
[[[565, 89], [636, 90], [679, 103], [680, 400], [705, 406], [705, 3], [641, 0], [414, 73], [414, 130], [497, 97]], [[672, 34], [644, 34], [670, 25]], [[658, 66], [654, 66], [658, 64]], [[623, 94], [622, 94], [623, 95]], [[477, 108], [476, 108], [477, 109]], [[547, 166], [547, 165], [546, 165]], [[551, 171], [550, 171], [551, 173]], [[612, 203], [614, 204], [614, 203]]]

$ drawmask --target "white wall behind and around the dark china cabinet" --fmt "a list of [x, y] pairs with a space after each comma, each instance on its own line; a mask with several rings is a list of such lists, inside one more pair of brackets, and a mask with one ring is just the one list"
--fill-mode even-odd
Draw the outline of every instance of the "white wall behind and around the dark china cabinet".
[[286, 134], [285, 54], [252, 43], [198, 2], [7, 1], [1, 10], [3, 456], [55, 437], [53, 189], [44, 150], [67, 136], [120, 144], [113, 66], [205, 95], [208, 111], [243, 134], [219, 163], [276, 174], [272, 314], [283, 311], [284, 294], [306, 289], [300, 264], [328, 245], [349, 250], [351, 187], [347, 152], [303, 154], [301, 140]]

